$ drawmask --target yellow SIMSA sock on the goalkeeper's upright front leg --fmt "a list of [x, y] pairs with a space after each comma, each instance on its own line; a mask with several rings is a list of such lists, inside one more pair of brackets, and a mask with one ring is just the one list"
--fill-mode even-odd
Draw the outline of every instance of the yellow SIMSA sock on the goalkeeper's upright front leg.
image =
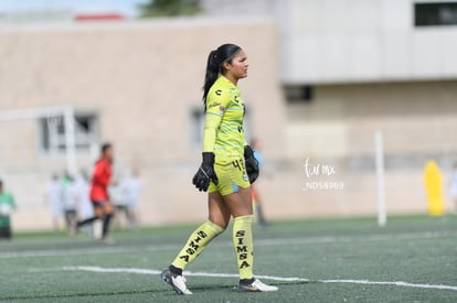
[[252, 215], [233, 219], [233, 246], [235, 247], [240, 280], [253, 278], [253, 219]]

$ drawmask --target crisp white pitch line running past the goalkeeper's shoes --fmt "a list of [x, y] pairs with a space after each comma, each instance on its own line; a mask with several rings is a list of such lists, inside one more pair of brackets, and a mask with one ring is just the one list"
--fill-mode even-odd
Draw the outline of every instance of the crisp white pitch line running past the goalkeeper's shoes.
[[[137, 268], [100, 268], [100, 267], [64, 267], [64, 271], [89, 271], [100, 273], [138, 273], [138, 274], [160, 274], [160, 270], [153, 269], [137, 269]], [[206, 277], [206, 278], [235, 278], [240, 275], [234, 273], [211, 273], [211, 272], [192, 272], [184, 271], [187, 277]], [[283, 282], [319, 282], [319, 283], [350, 283], [350, 284], [363, 284], [363, 285], [389, 285], [389, 286], [401, 286], [401, 288], [415, 288], [415, 289], [434, 289], [434, 290], [450, 290], [457, 291], [457, 286], [443, 285], [443, 284], [416, 284], [403, 281], [370, 281], [370, 280], [309, 280], [304, 278], [285, 278], [275, 275], [256, 275], [259, 279], [266, 279], [272, 281]]]

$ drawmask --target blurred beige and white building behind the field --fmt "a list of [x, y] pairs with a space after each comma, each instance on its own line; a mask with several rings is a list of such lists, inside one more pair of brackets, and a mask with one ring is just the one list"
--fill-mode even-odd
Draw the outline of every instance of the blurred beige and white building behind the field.
[[[146, 225], [198, 221], [205, 196], [190, 180], [200, 162], [204, 64], [213, 47], [234, 42], [251, 64], [241, 88], [247, 134], [263, 142], [267, 216], [374, 215], [376, 132], [389, 214], [425, 212], [428, 159], [443, 169], [448, 202], [457, 159], [453, 7], [203, 3], [208, 15], [199, 18], [1, 29], [1, 109], [71, 107], [75, 166], [89, 169], [98, 144], [111, 141], [118, 177], [141, 169]], [[0, 173], [18, 196], [23, 229], [50, 225], [41, 195], [51, 173], [68, 166], [64, 120], [45, 113], [1, 122]]]

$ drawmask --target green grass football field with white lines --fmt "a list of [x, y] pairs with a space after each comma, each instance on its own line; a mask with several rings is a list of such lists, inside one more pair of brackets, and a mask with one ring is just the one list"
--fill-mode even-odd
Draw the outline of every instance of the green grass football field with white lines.
[[[276, 293], [236, 293], [231, 232], [188, 270], [191, 296], [158, 273], [196, 226], [88, 236], [17, 235], [0, 241], [4, 302], [457, 302], [457, 217], [276, 223], [255, 227], [255, 272]], [[228, 231], [228, 230], [227, 230]], [[287, 279], [293, 278], [293, 279]]]

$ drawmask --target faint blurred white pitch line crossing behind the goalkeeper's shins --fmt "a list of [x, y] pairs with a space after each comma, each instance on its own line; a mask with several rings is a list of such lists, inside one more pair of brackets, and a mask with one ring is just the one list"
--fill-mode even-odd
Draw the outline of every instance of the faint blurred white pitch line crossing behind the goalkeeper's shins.
[[[254, 245], [276, 246], [276, 245], [313, 245], [313, 244], [338, 244], [338, 242], [357, 242], [357, 241], [385, 241], [385, 240], [416, 240], [432, 239], [443, 237], [457, 237], [457, 231], [427, 231], [427, 232], [404, 232], [392, 235], [369, 235], [369, 236], [323, 236], [306, 238], [285, 238], [285, 239], [259, 239]], [[149, 246], [130, 246], [130, 247], [104, 247], [104, 248], [76, 248], [76, 249], [54, 249], [54, 250], [25, 250], [0, 252], [0, 259], [14, 258], [34, 258], [34, 257], [61, 257], [61, 256], [87, 256], [104, 253], [126, 253], [141, 251], [163, 251], [180, 248], [180, 245], [149, 245]], [[232, 247], [232, 242], [217, 242], [213, 247]]]

